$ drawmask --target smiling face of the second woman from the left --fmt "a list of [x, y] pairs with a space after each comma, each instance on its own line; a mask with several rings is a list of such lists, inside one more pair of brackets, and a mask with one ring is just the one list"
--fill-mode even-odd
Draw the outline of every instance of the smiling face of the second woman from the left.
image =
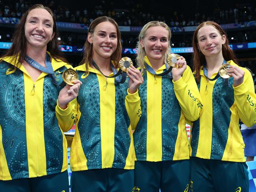
[[109, 59], [117, 49], [117, 29], [111, 22], [101, 22], [87, 38], [93, 45], [93, 57]]

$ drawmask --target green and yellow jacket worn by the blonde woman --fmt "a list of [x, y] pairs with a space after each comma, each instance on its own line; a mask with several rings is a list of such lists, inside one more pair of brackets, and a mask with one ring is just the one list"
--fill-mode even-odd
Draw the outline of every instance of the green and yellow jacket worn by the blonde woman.
[[[147, 56], [145, 62], [151, 66]], [[166, 70], [161, 66], [156, 73]], [[185, 119], [197, 120], [201, 97], [189, 66], [178, 81], [146, 71], [139, 87], [142, 115], [134, 131], [137, 161], [189, 159], [189, 140]]]

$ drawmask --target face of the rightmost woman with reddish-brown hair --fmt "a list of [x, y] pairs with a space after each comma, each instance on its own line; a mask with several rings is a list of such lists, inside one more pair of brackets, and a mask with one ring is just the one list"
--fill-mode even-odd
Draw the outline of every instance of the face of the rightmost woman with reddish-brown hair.
[[222, 55], [222, 46], [226, 42], [226, 36], [211, 25], [203, 26], [197, 33], [198, 49], [205, 57]]

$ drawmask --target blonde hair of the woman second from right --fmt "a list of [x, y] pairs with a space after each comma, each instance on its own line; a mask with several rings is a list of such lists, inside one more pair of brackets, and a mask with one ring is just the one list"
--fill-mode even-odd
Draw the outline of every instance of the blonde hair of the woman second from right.
[[137, 48], [136, 63], [137, 63], [137, 65], [140, 66], [141, 72], [143, 72], [145, 70], [145, 68], [146, 68], [145, 61], [144, 61], [144, 57], [146, 55], [146, 52], [145, 52], [145, 48], [143, 48], [141, 46], [140, 40], [144, 39], [148, 28], [155, 27], [155, 26], [161, 26], [161, 27], [165, 28], [168, 31], [168, 33], [169, 33], [169, 35], [168, 35], [168, 43], [169, 43], [169, 45], [168, 45], [167, 51], [165, 53], [165, 62], [167, 62], [166, 61], [167, 60], [167, 56], [171, 52], [171, 44], [170, 44], [171, 30], [168, 27], [168, 25], [166, 23], [164, 23], [164, 22], [161, 22], [161, 21], [150, 21], [150, 22], [148, 22], [147, 24], [145, 24], [145, 26], [143, 26], [141, 32], [139, 33], [139, 38], [138, 38], [139, 41], [138, 41], [137, 46], [136, 46], [136, 48]]

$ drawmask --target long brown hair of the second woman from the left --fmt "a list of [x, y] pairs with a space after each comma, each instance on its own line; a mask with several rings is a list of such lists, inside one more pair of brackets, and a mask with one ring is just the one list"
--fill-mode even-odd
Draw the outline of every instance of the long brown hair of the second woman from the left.
[[[117, 49], [110, 57], [111, 61], [114, 61], [113, 65], [115, 66], [115, 68], [117, 68], [118, 63], [122, 57], [121, 33], [120, 33], [117, 22], [115, 22], [115, 20], [113, 20], [113, 18], [110, 18], [110, 17], [106, 17], [106, 16], [98, 17], [95, 20], [93, 20], [93, 22], [91, 22], [88, 29], [88, 33], [91, 33], [91, 35], [93, 35], [96, 26], [102, 22], [107, 22], [107, 21], [112, 23], [117, 29]], [[85, 63], [85, 71], [88, 72], [89, 66], [91, 65], [92, 62], [93, 62], [93, 44], [90, 44], [87, 38], [83, 46], [83, 60], [81, 61], [80, 65], [83, 65], [83, 63]]]

